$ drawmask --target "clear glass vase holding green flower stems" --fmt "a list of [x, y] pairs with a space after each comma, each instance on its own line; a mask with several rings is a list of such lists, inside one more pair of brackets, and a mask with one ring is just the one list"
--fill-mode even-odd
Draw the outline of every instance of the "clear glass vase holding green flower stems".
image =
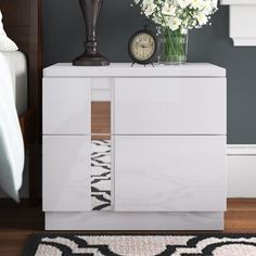
[[188, 29], [163, 29], [159, 33], [158, 62], [165, 65], [187, 63]]

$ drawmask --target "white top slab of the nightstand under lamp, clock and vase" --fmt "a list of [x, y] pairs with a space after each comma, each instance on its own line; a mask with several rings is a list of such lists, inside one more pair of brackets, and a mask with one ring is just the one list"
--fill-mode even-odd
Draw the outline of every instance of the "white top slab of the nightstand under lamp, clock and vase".
[[43, 77], [226, 77], [226, 69], [209, 63], [143, 66], [112, 63], [110, 66], [73, 66], [57, 63], [43, 69]]

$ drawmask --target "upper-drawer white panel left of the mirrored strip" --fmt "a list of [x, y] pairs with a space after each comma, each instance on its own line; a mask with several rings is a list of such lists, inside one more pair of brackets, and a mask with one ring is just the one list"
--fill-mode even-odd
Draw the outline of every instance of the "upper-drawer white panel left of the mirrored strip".
[[42, 100], [44, 135], [90, 133], [90, 79], [44, 78]]

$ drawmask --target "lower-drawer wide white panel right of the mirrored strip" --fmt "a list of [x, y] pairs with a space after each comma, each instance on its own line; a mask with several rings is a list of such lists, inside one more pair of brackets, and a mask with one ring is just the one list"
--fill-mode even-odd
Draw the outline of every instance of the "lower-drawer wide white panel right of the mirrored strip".
[[225, 136], [116, 136], [115, 210], [226, 209]]

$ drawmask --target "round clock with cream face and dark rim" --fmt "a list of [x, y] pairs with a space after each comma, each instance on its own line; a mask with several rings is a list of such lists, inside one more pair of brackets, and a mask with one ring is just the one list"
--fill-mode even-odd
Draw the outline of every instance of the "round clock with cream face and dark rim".
[[146, 31], [136, 34], [129, 43], [129, 52], [136, 62], [146, 62], [156, 51], [155, 38]]

